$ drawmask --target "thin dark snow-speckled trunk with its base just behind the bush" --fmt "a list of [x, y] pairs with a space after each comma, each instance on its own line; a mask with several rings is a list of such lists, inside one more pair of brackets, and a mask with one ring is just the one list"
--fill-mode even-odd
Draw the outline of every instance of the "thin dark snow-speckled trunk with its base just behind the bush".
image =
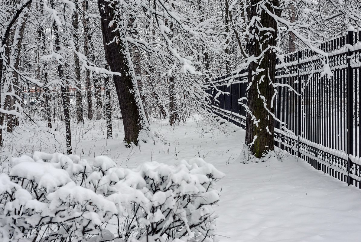
[[[51, 2], [52, 4], [52, 2]], [[52, 6], [52, 8], [54, 8]], [[54, 39], [55, 39], [55, 52], [60, 53], [60, 38], [59, 38], [59, 30], [56, 23], [53, 23], [54, 29]], [[57, 63], [59, 79], [62, 82], [61, 85], [61, 99], [63, 102], [64, 109], [64, 121], [65, 121], [65, 133], [66, 133], [66, 154], [71, 154], [71, 131], [70, 131], [70, 116], [69, 116], [69, 83], [66, 81], [63, 65], [59, 62]]]

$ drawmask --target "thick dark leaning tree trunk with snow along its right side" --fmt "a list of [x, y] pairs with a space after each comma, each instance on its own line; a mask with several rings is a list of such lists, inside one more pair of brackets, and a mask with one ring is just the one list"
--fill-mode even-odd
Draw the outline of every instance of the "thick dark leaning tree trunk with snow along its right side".
[[139, 140], [147, 141], [150, 130], [132, 68], [121, 13], [114, 23], [114, 12], [119, 10], [117, 1], [98, 0], [98, 6], [106, 59], [112, 72], [121, 75], [113, 75], [113, 79], [123, 117], [124, 141], [127, 144], [138, 144]]

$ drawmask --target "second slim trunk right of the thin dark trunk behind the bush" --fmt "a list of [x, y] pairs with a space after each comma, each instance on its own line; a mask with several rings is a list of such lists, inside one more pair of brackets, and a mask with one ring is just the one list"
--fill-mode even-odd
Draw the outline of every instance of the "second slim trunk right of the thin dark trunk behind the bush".
[[[83, 26], [84, 26], [84, 55], [90, 60], [89, 43], [91, 42], [91, 35], [89, 34], [89, 18], [86, 18], [85, 13], [88, 12], [88, 0], [83, 1]], [[92, 104], [92, 91], [91, 91], [91, 80], [90, 70], [85, 71], [86, 78], [86, 90], [87, 90], [87, 103], [88, 103], [88, 119], [93, 118], [93, 104]]]

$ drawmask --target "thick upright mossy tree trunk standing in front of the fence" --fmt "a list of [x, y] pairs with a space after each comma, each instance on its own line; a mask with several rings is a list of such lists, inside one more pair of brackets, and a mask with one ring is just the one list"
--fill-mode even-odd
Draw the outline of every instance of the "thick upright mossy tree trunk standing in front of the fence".
[[[262, 3], [263, 4], [263, 3]], [[272, 5], [271, 5], [272, 4]], [[258, 0], [251, 0], [251, 19], [258, 20], [251, 26], [249, 39], [249, 56], [254, 60], [249, 64], [247, 92], [246, 139], [251, 152], [261, 158], [267, 151], [274, 150], [274, 118], [271, 107], [276, 69], [277, 23], [264, 8], [280, 16], [279, 0], [270, 0], [261, 5]], [[262, 8], [263, 7], [263, 8]]]

